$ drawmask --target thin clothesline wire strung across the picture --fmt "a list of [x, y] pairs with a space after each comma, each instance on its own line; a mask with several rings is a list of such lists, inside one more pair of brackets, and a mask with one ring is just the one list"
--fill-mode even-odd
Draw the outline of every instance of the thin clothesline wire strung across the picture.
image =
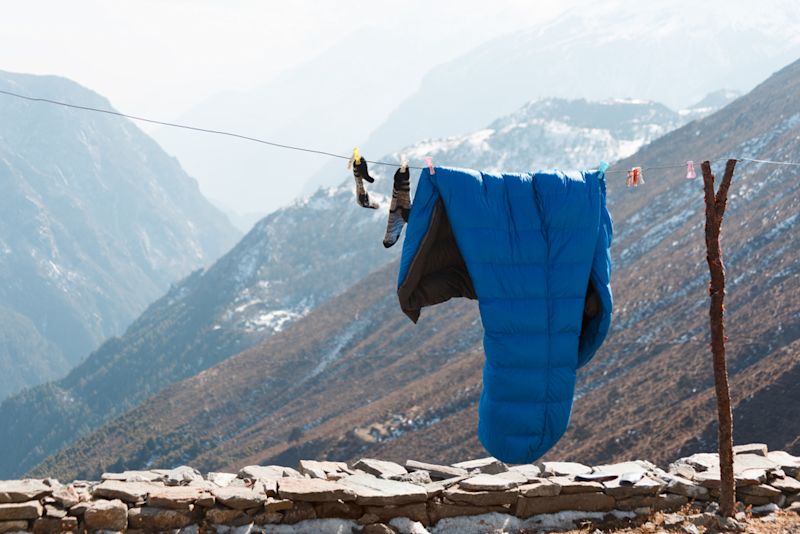
[[[107, 115], [114, 115], [114, 116], [117, 116], [117, 117], [124, 117], [126, 119], [131, 119], [131, 120], [140, 121], [140, 122], [147, 122], [147, 123], [150, 123], [150, 124], [158, 124], [160, 126], [168, 126], [170, 128], [180, 128], [180, 129], [183, 129], [183, 130], [190, 130], [190, 131], [194, 131], [194, 132], [202, 132], [202, 133], [208, 133], [208, 134], [213, 134], [213, 135], [223, 135], [223, 136], [227, 136], [227, 137], [234, 137], [236, 139], [242, 139], [242, 140], [245, 140], [245, 141], [252, 141], [254, 143], [260, 143], [262, 145], [268, 145], [268, 146], [272, 146], [272, 147], [275, 147], [275, 148], [284, 148], [284, 149], [287, 149], [287, 150], [296, 150], [298, 152], [307, 152], [309, 154], [318, 154], [318, 155], [322, 155], [322, 156], [329, 156], [329, 157], [332, 157], [332, 158], [338, 158], [338, 159], [348, 160], [348, 161], [351, 159], [351, 156], [344, 156], [342, 154], [336, 154], [334, 152], [328, 152], [326, 150], [318, 150], [318, 149], [315, 149], [315, 148], [308, 148], [308, 147], [297, 146], [297, 145], [289, 145], [289, 144], [286, 144], [286, 143], [277, 143], [275, 141], [268, 141], [266, 139], [260, 139], [258, 137], [252, 137], [252, 136], [249, 136], [249, 135], [239, 134], [239, 133], [236, 133], [236, 132], [229, 132], [229, 131], [226, 131], [226, 130], [216, 130], [216, 129], [212, 129], [212, 128], [202, 128], [202, 127], [199, 127], [199, 126], [190, 126], [190, 125], [187, 125], [187, 124], [179, 124], [179, 123], [176, 123], [176, 122], [169, 122], [169, 121], [162, 121], [162, 120], [158, 120], [158, 119], [151, 119], [151, 118], [142, 117], [142, 116], [139, 116], [139, 115], [130, 115], [130, 114], [122, 113], [120, 111], [116, 111], [116, 110], [113, 110], [113, 109], [96, 108], [96, 107], [84, 106], [84, 105], [80, 105], [80, 104], [72, 104], [70, 102], [64, 102], [64, 101], [61, 101], [61, 100], [54, 100], [54, 99], [51, 99], [51, 98], [28, 96], [28, 95], [23, 95], [23, 94], [20, 94], [20, 93], [15, 93], [14, 91], [7, 91], [7, 90], [4, 90], [4, 89], [0, 89], [0, 94], [4, 94], [4, 95], [7, 95], [7, 96], [12, 96], [12, 97], [15, 97], [15, 98], [20, 98], [20, 99], [23, 99], [23, 100], [28, 100], [30, 102], [44, 102], [44, 103], [47, 103], [47, 104], [53, 104], [53, 105], [63, 106], [63, 107], [72, 108], [72, 109], [79, 109], [79, 110], [83, 110], [83, 111], [94, 111], [96, 113], [104, 113], [104, 114], [107, 114]], [[366, 158], [364, 158], [364, 159], [365, 159], [365, 161], [367, 163], [371, 163], [373, 165], [385, 165], [385, 166], [389, 166], [389, 167], [397, 167], [399, 165], [398, 162], [369, 160], [369, 159], [366, 159]], [[725, 158], [716, 158], [716, 159], [709, 160], [709, 161], [720, 161], [722, 159], [725, 159]], [[753, 158], [734, 158], [734, 159], [736, 159], [737, 161], [749, 161], [749, 162], [753, 162], [753, 163], [765, 163], [765, 164], [772, 164], [772, 165], [789, 165], [789, 166], [800, 167], [800, 162], [794, 162], [794, 161], [773, 161], [773, 160], [753, 159]], [[700, 160], [697, 160], [697, 161], [700, 161]], [[650, 170], [662, 170], [662, 169], [680, 169], [680, 168], [685, 168], [686, 165], [687, 165], [687, 162], [683, 162], [683, 163], [676, 164], [676, 165], [652, 165], [652, 166], [642, 167], [642, 170], [650, 171]], [[417, 167], [417, 166], [414, 166], [414, 165], [409, 165], [408, 168], [409, 169], [422, 170], [425, 167]], [[627, 173], [627, 172], [629, 172], [629, 171], [623, 170], [623, 169], [619, 169], [619, 170], [607, 170], [605, 173], [606, 174], [621, 174], [621, 173]]]

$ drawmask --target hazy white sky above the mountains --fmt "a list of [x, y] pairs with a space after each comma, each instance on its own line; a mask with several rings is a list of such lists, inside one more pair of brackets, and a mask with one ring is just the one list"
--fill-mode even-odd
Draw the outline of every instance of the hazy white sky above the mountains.
[[[31, 0], [4, 2], [0, 69], [71, 78], [120, 110], [171, 119], [211, 94], [248, 89], [362, 26], [431, 44], [422, 71], [536, 24], [555, 0]], [[357, 58], [353, 58], [354, 62]]]

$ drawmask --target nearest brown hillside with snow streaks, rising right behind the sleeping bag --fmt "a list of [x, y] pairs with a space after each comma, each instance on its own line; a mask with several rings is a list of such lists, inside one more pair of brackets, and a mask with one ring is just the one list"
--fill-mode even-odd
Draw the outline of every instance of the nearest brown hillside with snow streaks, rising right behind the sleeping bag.
[[[800, 161], [800, 62], [612, 170], [725, 154]], [[795, 453], [800, 425], [786, 384], [796, 374], [800, 337], [796, 173], [742, 163], [723, 229], [736, 436]], [[683, 169], [647, 178], [626, 190], [624, 174], [609, 175], [613, 330], [580, 374], [570, 429], [551, 458], [663, 461], [713, 446], [703, 439], [715, 412], [702, 186]], [[109, 465], [218, 469], [302, 457], [402, 460], [419, 450], [441, 461], [482, 454], [475, 439], [482, 359], [476, 306], [450, 302], [413, 325], [398, 308], [395, 272], [390, 265], [370, 275], [33, 472], [70, 478]], [[764, 430], [755, 407], [767, 405], [773, 409]]]

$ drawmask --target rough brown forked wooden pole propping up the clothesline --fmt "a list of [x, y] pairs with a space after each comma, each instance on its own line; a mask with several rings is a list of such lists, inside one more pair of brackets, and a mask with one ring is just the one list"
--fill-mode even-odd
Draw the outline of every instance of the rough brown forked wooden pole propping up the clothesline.
[[728, 389], [728, 367], [725, 361], [725, 266], [722, 263], [722, 248], [719, 244], [722, 217], [728, 202], [728, 188], [731, 186], [736, 160], [729, 159], [725, 165], [719, 190], [714, 193], [714, 175], [711, 164], [704, 161], [703, 191], [706, 202], [706, 259], [711, 272], [708, 294], [711, 297], [709, 312], [711, 322], [711, 354], [714, 360], [714, 385], [717, 392], [717, 415], [719, 417], [719, 468], [722, 485], [720, 487], [719, 511], [723, 517], [733, 515], [736, 486], [733, 476], [733, 414], [731, 396]]

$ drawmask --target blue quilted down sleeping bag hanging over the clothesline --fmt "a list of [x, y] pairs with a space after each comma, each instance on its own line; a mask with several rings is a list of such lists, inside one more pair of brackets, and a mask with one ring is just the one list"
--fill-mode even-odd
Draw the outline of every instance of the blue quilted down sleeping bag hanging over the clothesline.
[[477, 298], [484, 327], [478, 437], [527, 463], [563, 435], [576, 370], [611, 321], [612, 224], [599, 171], [492, 174], [425, 169], [400, 263], [398, 297], [420, 309]]

